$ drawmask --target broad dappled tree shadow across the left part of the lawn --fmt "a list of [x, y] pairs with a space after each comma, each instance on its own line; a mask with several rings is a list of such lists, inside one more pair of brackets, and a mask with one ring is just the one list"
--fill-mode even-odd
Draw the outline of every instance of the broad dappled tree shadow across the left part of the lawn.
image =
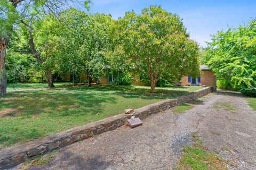
[[[116, 99], [109, 94], [85, 92], [81, 90], [40, 90], [12, 92], [0, 99], [0, 108], [17, 108], [19, 116], [29, 116], [43, 111], [54, 112], [52, 117], [83, 115], [85, 113], [97, 114], [101, 112], [101, 103], [116, 103]], [[82, 112], [77, 112], [77, 108]], [[68, 112], [67, 112], [68, 111]], [[9, 113], [9, 115], [15, 113]]]

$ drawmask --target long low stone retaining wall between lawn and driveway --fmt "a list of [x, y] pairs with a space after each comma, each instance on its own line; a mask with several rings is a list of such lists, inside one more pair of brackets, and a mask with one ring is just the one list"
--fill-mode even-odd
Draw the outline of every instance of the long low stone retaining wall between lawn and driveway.
[[121, 127], [131, 116], [144, 119], [151, 114], [165, 111], [174, 106], [187, 103], [213, 92], [212, 87], [206, 87], [201, 90], [190, 92], [187, 95], [161, 101], [155, 104], [147, 105], [134, 110], [130, 115], [119, 114], [113, 117], [105, 118], [101, 121], [93, 122], [85, 126], [79, 126], [67, 131], [50, 135], [44, 138], [38, 138], [34, 141], [23, 143], [21, 145], [0, 150], [0, 169], [7, 169], [25, 162], [27, 159], [35, 157], [41, 153], [49, 152], [53, 149], [65, 147], [79, 140], [84, 140], [106, 131], [111, 131]]

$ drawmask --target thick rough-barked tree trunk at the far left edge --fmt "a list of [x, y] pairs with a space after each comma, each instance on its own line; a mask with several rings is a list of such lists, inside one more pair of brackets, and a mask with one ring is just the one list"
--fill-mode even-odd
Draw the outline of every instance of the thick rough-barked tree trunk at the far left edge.
[[7, 77], [5, 74], [5, 54], [7, 40], [0, 37], [0, 96], [6, 95]]

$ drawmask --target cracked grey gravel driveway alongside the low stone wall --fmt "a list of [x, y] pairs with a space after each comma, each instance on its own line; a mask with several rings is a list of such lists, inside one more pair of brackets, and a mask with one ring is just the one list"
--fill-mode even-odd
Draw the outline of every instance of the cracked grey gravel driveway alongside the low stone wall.
[[190, 145], [191, 132], [235, 165], [229, 169], [256, 169], [256, 112], [245, 98], [218, 91], [200, 100], [182, 114], [170, 109], [138, 128], [118, 128], [61, 148], [45, 165], [26, 169], [172, 169], [182, 147]]

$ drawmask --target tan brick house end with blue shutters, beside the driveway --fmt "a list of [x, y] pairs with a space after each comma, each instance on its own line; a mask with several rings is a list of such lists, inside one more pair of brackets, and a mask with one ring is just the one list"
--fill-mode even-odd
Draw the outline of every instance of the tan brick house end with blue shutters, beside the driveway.
[[180, 80], [181, 86], [213, 86], [214, 90], [216, 90], [216, 76], [214, 75], [214, 71], [211, 71], [207, 65], [200, 65], [200, 69], [202, 71], [200, 77], [182, 77]]

